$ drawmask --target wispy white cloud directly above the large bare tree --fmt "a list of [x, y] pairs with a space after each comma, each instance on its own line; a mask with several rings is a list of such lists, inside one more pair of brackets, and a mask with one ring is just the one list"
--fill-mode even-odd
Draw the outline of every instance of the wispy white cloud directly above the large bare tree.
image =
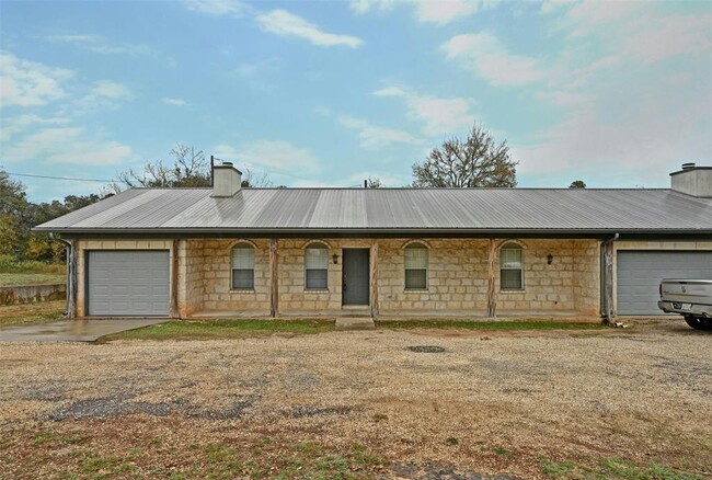
[[394, 96], [405, 102], [411, 118], [425, 123], [424, 133], [430, 136], [452, 134], [468, 128], [474, 121], [470, 99], [422, 95], [402, 87], [390, 85], [374, 92], [376, 96]]

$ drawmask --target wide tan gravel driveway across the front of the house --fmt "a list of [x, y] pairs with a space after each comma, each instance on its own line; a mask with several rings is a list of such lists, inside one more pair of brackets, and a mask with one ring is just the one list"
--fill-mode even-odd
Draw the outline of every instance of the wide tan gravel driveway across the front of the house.
[[147, 435], [179, 452], [188, 441], [265, 435], [357, 443], [393, 462], [387, 478], [426, 478], [432, 465], [447, 478], [537, 478], [542, 459], [596, 458], [712, 473], [711, 342], [668, 320], [604, 331], [3, 344], [0, 472], [50, 473], [69, 454], [51, 452], [31, 469], [37, 433], [81, 427], [104, 453]]

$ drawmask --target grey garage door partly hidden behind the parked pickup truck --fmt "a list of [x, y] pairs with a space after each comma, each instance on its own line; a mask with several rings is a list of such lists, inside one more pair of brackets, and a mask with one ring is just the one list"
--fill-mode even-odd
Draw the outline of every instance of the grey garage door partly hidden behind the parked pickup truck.
[[664, 315], [657, 308], [663, 278], [712, 279], [712, 252], [619, 251], [618, 313]]

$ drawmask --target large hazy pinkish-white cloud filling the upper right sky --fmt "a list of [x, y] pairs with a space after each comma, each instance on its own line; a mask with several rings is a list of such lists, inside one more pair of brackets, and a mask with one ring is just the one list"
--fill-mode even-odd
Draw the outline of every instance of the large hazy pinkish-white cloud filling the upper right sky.
[[659, 185], [681, 161], [712, 157], [708, 11], [558, 5], [549, 19], [562, 48], [535, 96], [560, 107], [560, 121], [516, 145], [518, 171], [582, 171], [608, 185], [635, 175]]

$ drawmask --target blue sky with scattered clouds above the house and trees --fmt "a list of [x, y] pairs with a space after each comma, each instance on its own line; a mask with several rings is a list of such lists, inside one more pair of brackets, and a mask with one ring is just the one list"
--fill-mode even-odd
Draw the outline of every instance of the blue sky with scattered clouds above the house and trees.
[[667, 187], [712, 164], [712, 2], [0, 0], [0, 89], [11, 173], [114, 180], [181, 144], [276, 185], [404, 186], [479, 123], [518, 186]]

